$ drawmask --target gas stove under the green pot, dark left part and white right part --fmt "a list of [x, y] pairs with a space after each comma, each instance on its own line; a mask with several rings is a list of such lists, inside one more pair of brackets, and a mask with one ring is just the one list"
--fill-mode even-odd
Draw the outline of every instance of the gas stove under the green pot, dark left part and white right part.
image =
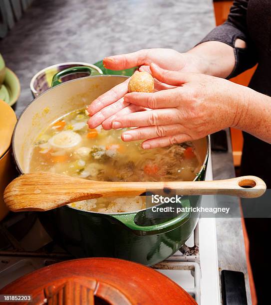
[[[207, 167], [211, 180], [212, 160]], [[215, 197], [203, 197], [210, 200]], [[35, 213], [10, 213], [0, 223], [0, 289], [36, 269], [73, 259], [48, 236]], [[220, 304], [215, 218], [201, 218], [194, 234], [167, 260], [152, 268], [184, 288], [198, 304]]]

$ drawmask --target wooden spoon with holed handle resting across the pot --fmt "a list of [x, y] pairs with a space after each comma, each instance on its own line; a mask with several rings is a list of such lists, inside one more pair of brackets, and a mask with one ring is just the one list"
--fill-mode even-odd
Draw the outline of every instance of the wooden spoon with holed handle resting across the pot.
[[47, 211], [85, 199], [108, 196], [138, 196], [147, 190], [176, 190], [178, 195], [225, 194], [256, 198], [266, 191], [266, 183], [255, 176], [217, 181], [104, 182], [50, 172], [20, 175], [4, 190], [4, 202], [13, 212]]

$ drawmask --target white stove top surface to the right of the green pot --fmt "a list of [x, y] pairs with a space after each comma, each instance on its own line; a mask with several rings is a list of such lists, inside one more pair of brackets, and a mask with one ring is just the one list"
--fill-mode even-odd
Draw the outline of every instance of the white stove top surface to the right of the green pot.
[[[210, 155], [206, 180], [212, 180], [212, 178]], [[203, 196], [202, 200], [215, 200], [215, 197]], [[193, 248], [191, 249], [191, 247]], [[177, 251], [166, 261], [153, 268], [184, 288], [199, 305], [221, 304], [216, 219], [201, 218], [194, 234], [181, 250], [188, 250], [190, 253], [185, 255], [181, 251]]]

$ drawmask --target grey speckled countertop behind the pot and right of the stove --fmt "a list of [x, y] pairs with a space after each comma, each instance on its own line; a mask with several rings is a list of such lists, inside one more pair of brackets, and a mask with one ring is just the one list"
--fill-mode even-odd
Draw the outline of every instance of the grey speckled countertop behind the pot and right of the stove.
[[[16, 114], [31, 102], [30, 79], [44, 67], [65, 61], [94, 63], [142, 48], [182, 52], [214, 26], [212, 0], [34, 1], [0, 40], [6, 65], [21, 83]], [[212, 157], [214, 179], [234, 175], [231, 150]], [[234, 204], [239, 209], [238, 201]], [[249, 293], [240, 218], [218, 218], [217, 234], [220, 268], [244, 272]]]

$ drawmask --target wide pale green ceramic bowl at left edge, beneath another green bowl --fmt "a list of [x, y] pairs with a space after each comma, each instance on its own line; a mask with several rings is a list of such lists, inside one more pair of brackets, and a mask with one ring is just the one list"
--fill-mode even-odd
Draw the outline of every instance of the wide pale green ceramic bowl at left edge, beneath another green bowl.
[[[3, 85], [8, 91], [9, 99], [5, 101], [9, 106], [15, 104], [20, 95], [20, 82], [18, 77], [10, 69], [5, 68], [5, 79]], [[3, 86], [2, 85], [2, 86]]]

